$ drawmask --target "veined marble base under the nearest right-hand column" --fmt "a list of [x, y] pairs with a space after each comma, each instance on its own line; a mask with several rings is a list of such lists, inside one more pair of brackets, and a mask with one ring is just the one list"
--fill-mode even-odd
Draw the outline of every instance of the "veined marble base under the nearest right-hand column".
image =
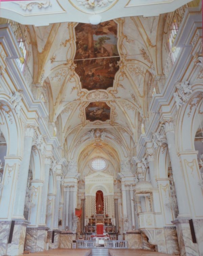
[[[180, 256], [198, 256], [199, 255], [198, 244], [193, 243], [191, 231], [190, 231], [189, 219], [178, 218], [172, 221], [172, 223], [176, 225], [178, 243], [180, 248]], [[195, 223], [194, 226], [196, 224], [197, 223]]]

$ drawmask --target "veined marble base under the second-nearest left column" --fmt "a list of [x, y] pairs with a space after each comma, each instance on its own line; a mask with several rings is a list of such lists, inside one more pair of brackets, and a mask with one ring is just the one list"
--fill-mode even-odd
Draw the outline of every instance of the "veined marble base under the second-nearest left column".
[[46, 250], [48, 227], [27, 227], [25, 251], [43, 252]]

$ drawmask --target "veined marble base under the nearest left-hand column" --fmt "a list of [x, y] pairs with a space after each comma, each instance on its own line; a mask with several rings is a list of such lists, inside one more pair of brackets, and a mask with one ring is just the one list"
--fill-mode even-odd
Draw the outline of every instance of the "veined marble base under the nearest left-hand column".
[[[10, 230], [10, 224], [11, 224], [11, 221], [9, 223], [9, 230]], [[26, 228], [28, 224], [29, 222], [26, 220], [19, 220], [19, 219], [15, 220], [12, 242], [7, 244], [7, 252], [5, 254], [8, 254], [10, 256], [23, 254]], [[9, 236], [9, 232], [7, 234]]]

